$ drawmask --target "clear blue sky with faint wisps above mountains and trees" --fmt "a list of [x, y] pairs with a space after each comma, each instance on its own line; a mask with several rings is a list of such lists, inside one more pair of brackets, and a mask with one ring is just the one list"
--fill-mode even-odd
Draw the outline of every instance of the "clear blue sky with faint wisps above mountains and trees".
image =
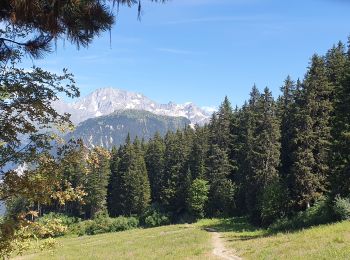
[[82, 96], [97, 88], [141, 92], [167, 103], [217, 106], [248, 98], [254, 83], [274, 95], [285, 77], [304, 76], [312, 54], [324, 54], [350, 34], [347, 0], [144, 0], [121, 8], [111, 33], [88, 49], [58, 42], [34, 64], [68, 68]]

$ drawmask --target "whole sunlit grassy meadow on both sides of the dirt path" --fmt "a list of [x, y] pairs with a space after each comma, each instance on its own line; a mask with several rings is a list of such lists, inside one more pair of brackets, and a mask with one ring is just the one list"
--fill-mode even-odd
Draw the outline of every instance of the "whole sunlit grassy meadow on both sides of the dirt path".
[[65, 237], [54, 252], [32, 251], [17, 259], [217, 259], [206, 227], [221, 232], [226, 248], [243, 259], [350, 259], [349, 221], [276, 233], [244, 218]]

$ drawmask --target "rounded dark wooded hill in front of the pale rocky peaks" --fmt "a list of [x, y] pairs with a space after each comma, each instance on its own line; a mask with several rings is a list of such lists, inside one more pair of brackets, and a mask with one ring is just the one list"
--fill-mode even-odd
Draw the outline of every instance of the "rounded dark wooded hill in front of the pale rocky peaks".
[[90, 147], [109, 149], [123, 144], [128, 133], [131, 140], [136, 136], [148, 140], [156, 132], [163, 136], [168, 131], [182, 129], [190, 123], [185, 117], [161, 116], [144, 110], [122, 110], [85, 120], [68, 137], [81, 138]]

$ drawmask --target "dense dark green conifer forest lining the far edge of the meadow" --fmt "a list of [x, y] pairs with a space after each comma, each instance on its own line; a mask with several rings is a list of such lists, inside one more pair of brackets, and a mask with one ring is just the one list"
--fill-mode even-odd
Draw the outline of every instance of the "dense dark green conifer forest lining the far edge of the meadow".
[[259, 226], [317, 207], [316, 222], [350, 217], [350, 52], [339, 42], [314, 55], [302, 80], [289, 76], [275, 100], [254, 85], [232, 108], [226, 97], [205, 126], [130, 140], [107, 151], [65, 154], [61, 184], [81, 191], [40, 205], [17, 197], [8, 214], [38, 208], [81, 219], [101, 214], [153, 225], [249, 216]]

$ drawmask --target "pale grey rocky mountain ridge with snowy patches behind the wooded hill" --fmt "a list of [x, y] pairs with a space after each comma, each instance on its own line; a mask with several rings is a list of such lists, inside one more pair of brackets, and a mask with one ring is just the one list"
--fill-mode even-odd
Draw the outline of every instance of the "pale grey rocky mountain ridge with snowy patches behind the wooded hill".
[[121, 110], [145, 110], [157, 115], [185, 117], [192, 124], [203, 125], [208, 122], [210, 113], [188, 102], [185, 104], [158, 104], [146, 96], [116, 88], [102, 88], [74, 103], [56, 101], [54, 104], [60, 113], [70, 113], [75, 124], [89, 118], [109, 115]]

